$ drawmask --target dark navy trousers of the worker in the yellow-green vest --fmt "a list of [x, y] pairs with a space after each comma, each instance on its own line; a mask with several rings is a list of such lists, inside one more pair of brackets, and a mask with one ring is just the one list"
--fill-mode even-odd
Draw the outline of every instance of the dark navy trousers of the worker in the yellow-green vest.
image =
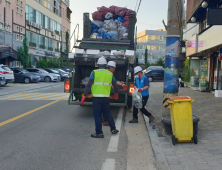
[[96, 134], [103, 134], [101, 114], [103, 113], [109, 123], [110, 131], [116, 130], [113, 116], [110, 113], [110, 99], [108, 97], [93, 97], [93, 115], [96, 125]]

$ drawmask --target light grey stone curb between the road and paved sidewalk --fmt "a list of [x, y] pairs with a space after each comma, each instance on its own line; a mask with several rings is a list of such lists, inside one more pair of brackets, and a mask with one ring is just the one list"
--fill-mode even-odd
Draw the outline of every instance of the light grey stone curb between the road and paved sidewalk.
[[160, 144], [160, 141], [158, 139], [158, 135], [156, 132], [156, 129], [152, 129], [152, 126], [149, 125], [149, 118], [143, 115], [144, 122], [146, 124], [148, 135], [150, 138], [151, 146], [153, 149], [153, 153], [155, 156], [156, 161], [156, 167], [158, 170], [170, 170], [169, 164], [166, 160], [166, 157], [164, 155], [164, 152], [162, 150], [162, 146]]

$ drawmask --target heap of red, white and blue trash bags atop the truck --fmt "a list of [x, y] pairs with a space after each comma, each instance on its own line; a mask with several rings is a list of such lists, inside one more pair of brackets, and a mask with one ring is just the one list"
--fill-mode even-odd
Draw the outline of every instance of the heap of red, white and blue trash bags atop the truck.
[[95, 39], [124, 40], [128, 39], [129, 15], [133, 10], [102, 6], [92, 13], [91, 36]]

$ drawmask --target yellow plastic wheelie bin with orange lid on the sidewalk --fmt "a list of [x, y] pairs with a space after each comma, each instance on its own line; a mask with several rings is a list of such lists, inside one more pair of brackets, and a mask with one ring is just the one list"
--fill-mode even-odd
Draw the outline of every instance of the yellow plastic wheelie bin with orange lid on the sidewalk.
[[194, 142], [197, 144], [197, 135], [193, 134], [192, 102], [188, 96], [171, 97], [168, 100], [172, 124], [172, 142]]

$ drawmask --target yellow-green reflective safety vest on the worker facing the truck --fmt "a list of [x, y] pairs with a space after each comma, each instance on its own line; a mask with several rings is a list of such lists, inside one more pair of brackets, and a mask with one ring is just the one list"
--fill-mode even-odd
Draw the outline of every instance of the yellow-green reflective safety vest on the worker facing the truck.
[[91, 88], [93, 97], [109, 97], [113, 73], [106, 69], [94, 70], [94, 83]]

